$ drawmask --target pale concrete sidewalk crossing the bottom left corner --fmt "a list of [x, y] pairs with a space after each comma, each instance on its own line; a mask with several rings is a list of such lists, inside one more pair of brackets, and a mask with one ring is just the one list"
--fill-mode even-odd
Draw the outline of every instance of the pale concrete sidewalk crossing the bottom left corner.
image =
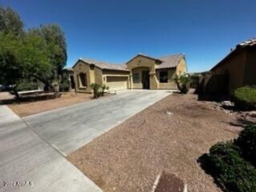
[[[7, 106], [0, 106], [0, 159], [1, 192], [101, 191]], [[25, 181], [31, 186], [3, 186]]]

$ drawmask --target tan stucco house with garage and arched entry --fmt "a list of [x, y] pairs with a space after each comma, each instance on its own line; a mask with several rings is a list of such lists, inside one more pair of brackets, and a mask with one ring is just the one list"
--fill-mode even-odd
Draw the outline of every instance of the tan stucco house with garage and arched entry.
[[107, 85], [111, 91], [125, 89], [177, 89], [173, 78], [186, 73], [184, 54], [154, 58], [138, 54], [123, 65], [78, 59], [73, 66], [76, 92], [91, 93], [91, 83]]

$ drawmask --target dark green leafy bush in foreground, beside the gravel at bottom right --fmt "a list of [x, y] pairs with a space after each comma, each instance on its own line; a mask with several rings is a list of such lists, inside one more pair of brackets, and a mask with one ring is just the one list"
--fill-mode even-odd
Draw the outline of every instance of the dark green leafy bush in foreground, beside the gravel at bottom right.
[[199, 158], [205, 171], [219, 187], [229, 192], [255, 192], [256, 169], [240, 155], [233, 142], [218, 143]]

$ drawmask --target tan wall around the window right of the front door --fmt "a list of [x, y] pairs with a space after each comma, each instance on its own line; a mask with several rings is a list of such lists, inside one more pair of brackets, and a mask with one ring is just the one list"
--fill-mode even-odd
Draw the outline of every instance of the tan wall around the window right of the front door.
[[[167, 75], [168, 75], [168, 82], [167, 83], [160, 83], [159, 82], [159, 74], [160, 71], [167, 71]], [[158, 83], [158, 89], [177, 89], [177, 84], [175, 83], [175, 81], [173, 80], [177, 74], [177, 70], [176, 68], [172, 68], [172, 69], [159, 69], [157, 70], [157, 81]]]

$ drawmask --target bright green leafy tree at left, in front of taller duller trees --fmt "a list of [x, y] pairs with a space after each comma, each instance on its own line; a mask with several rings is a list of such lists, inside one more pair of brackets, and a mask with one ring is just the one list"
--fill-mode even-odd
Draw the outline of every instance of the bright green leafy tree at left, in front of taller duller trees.
[[0, 32], [0, 83], [13, 85], [17, 98], [17, 86], [22, 79], [41, 79], [51, 73], [51, 70], [49, 56], [41, 37], [26, 34], [21, 41], [13, 34]]

